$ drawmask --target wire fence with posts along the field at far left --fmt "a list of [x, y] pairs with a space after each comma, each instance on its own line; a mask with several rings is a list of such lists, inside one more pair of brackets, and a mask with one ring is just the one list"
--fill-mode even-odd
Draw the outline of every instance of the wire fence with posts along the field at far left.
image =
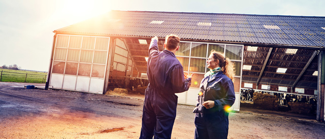
[[45, 83], [47, 75], [0, 71], [0, 82]]

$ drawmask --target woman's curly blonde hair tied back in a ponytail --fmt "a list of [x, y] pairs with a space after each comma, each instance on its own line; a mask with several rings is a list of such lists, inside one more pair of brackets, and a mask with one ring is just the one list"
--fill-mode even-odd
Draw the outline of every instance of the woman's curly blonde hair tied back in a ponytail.
[[214, 60], [219, 60], [219, 66], [221, 67], [221, 71], [224, 75], [228, 76], [231, 80], [233, 80], [235, 76], [234, 64], [229, 58], [225, 58], [220, 52], [215, 50], [211, 50], [210, 55], [213, 55]]

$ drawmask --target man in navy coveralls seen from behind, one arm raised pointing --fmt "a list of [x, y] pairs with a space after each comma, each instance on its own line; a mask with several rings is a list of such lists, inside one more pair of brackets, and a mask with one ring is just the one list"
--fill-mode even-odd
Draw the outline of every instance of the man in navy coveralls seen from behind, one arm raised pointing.
[[[140, 138], [171, 138], [176, 117], [177, 95], [187, 91], [191, 78], [184, 74], [176, 59], [179, 37], [166, 36], [164, 51], [158, 50], [158, 38], [151, 39], [147, 75], [149, 85], [145, 91]], [[186, 79], [184, 79], [184, 77]]]

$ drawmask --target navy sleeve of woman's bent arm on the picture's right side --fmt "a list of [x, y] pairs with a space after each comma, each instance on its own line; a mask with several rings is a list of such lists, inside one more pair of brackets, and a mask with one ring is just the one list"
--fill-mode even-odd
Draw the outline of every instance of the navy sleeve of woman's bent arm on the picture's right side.
[[218, 111], [223, 110], [224, 106], [232, 107], [236, 99], [234, 83], [232, 80], [225, 82], [222, 87], [223, 91], [225, 91], [225, 97], [214, 100], [214, 105], [217, 107]]

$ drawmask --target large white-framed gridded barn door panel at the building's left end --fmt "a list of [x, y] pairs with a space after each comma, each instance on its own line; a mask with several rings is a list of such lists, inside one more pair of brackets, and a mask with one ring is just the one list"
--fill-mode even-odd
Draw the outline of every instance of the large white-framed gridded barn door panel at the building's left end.
[[[52, 76], [54, 88], [101, 92], [109, 38], [58, 34]], [[58, 81], [61, 80], [61, 81]]]

